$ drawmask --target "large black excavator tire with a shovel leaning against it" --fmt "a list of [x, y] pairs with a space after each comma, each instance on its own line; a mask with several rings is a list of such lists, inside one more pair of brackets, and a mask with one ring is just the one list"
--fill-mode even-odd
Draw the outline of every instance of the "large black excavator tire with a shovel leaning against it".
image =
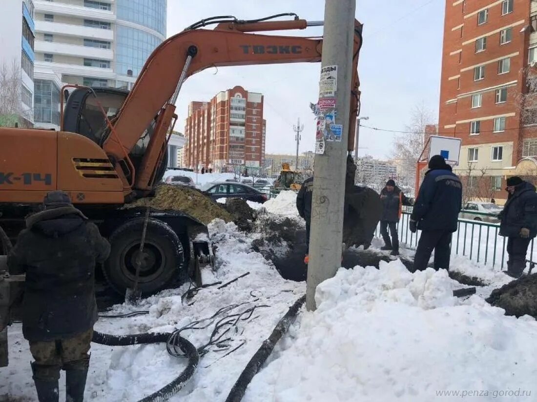
[[[144, 219], [133, 219], [121, 225], [108, 238], [110, 257], [103, 266], [108, 283], [119, 294], [134, 286], [136, 255], [140, 252]], [[138, 287], [143, 295], [161, 291], [184, 269], [184, 250], [179, 237], [165, 222], [149, 219], [144, 242], [144, 265]]]

